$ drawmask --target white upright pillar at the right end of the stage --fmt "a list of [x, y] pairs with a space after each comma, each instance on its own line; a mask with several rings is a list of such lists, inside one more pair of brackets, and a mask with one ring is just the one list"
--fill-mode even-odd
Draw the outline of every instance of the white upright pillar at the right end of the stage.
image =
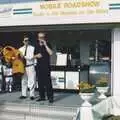
[[112, 32], [112, 94], [120, 96], [120, 28]]

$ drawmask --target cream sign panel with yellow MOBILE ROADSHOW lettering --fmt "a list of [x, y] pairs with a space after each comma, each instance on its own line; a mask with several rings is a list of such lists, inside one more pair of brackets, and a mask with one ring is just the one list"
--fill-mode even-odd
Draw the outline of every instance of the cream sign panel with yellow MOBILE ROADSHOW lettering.
[[108, 14], [108, 4], [102, 0], [42, 2], [33, 7], [33, 16], [81, 16]]

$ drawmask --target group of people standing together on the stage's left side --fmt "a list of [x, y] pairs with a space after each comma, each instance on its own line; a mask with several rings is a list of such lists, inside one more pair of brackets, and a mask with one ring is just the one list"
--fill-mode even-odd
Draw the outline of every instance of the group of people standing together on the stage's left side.
[[[50, 76], [52, 48], [48, 40], [46, 40], [44, 32], [39, 32], [37, 39], [37, 44], [32, 46], [29, 36], [24, 35], [23, 46], [19, 49], [6, 46], [0, 50], [1, 61], [5, 62], [6, 66], [10, 68], [9, 74], [5, 75], [7, 78], [5, 81], [6, 83], [13, 81], [11, 82], [12, 84], [9, 84], [13, 87], [12, 89], [21, 90], [20, 99], [28, 97], [27, 90], [29, 89], [30, 99], [34, 100], [37, 79], [39, 98], [36, 101], [44, 101], [47, 97], [49, 102], [53, 103], [53, 89]], [[11, 80], [8, 78], [11, 78]], [[9, 89], [10, 86], [7, 86], [6, 89]]]

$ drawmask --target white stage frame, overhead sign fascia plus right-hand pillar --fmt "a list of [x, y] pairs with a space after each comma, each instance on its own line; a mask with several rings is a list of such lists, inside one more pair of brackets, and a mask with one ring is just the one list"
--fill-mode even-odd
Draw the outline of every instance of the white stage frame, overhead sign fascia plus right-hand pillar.
[[[120, 41], [118, 41], [120, 33], [119, 6], [119, 0], [41, 1], [1, 4], [0, 32], [2, 34], [2, 32], [17, 31], [108, 31], [111, 34], [112, 43], [111, 88], [112, 94], [118, 94], [120, 57], [116, 54], [120, 49]], [[114, 79], [116, 80], [114, 81]]]

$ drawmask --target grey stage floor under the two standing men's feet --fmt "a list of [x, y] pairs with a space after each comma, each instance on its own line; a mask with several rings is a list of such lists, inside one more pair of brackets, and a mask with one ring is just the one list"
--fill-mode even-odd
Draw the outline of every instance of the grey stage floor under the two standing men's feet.
[[[25, 100], [20, 100], [19, 99], [20, 92], [13, 92], [13, 93], [1, 93], [0, 94], [0, 104], [2, 103], [18, 103], [18, 104], [34, 104], [34, 105], [52, 105], [52, 106], [60, 106], [60, 107], [75, 107], [79, 108], [81, 104], [83, 103], [83, 100], [80, 98], [80, 96], [77, 93], [61, 93], [57, 92], [54, 94], [54, 103], [49, 104], [48, 101], [45, 102], [36, 102], [36, 100], [31, 101], [29, 97]], [[38, 93], [36, 92], [36, 99], [38, 98]], [[97, 96], [93, 96], [91, 99], [91, 103], [94, 105], [99, 100], [97, 99]], [[97, 118], [97, 115], [95, 115], [95, 120], [100, 120]]]

